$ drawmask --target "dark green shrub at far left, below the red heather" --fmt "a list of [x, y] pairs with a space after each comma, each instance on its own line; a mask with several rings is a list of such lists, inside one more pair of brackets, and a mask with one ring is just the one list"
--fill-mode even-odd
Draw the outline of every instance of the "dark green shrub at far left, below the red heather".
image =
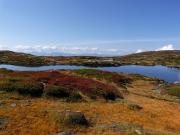
[[18, 82], [15, 90], [21, 95], [39, 97], [43, 93], [43, 85], [35, 82]]

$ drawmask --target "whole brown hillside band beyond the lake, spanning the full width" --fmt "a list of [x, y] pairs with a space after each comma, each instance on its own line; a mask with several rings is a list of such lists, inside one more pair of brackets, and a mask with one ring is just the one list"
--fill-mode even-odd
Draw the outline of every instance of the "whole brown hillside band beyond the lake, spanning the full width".
[[81, 65], [81, 66], [120, 66], [120, 65], [165, 65], [179, 67], [180, 51], [151, 51], [118, 57], [97, 56], [34, 56], [25, 53], [0, 51], [1, 64], [22, 66]]

